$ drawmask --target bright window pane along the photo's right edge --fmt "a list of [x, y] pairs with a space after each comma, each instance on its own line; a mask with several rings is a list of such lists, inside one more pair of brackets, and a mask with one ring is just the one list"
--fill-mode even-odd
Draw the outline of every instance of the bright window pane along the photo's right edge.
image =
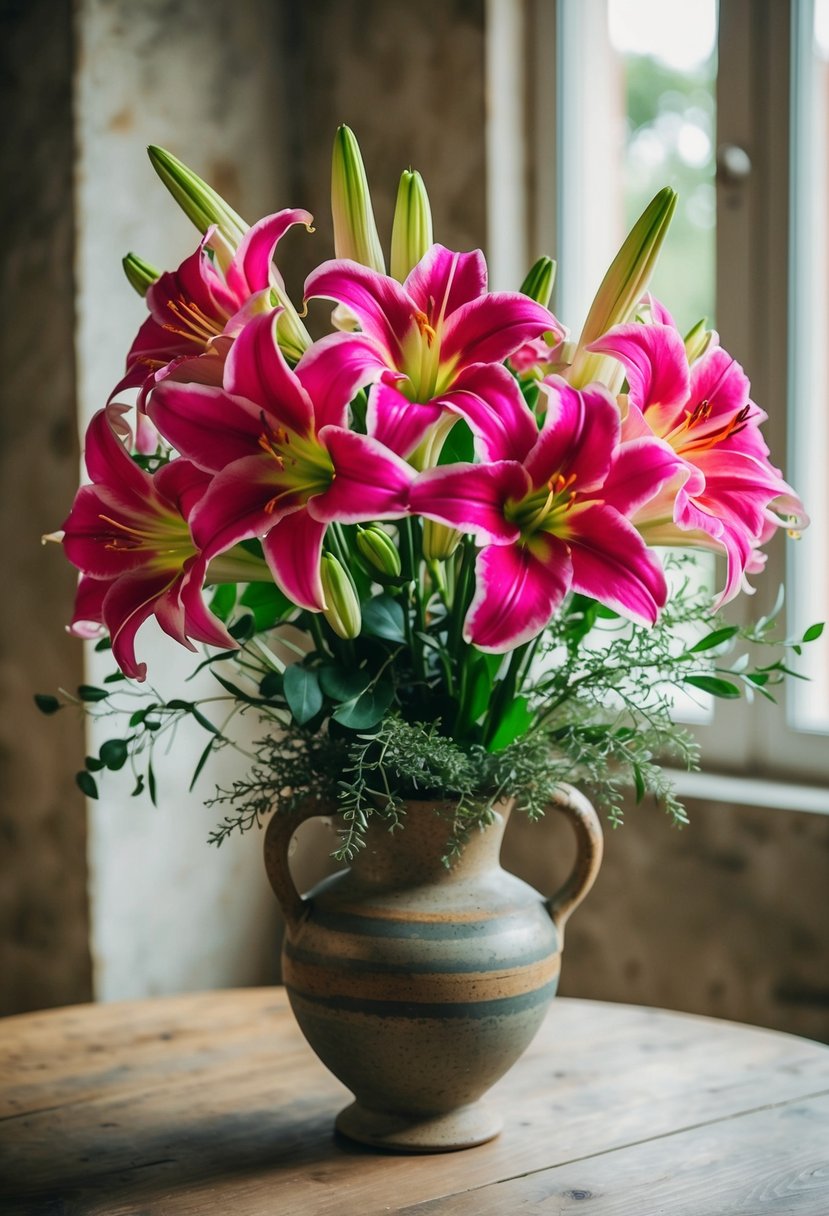
[[[791, 478], [812, 517], [790, 546], [790, 623], [829, 618], [829, 0], [794, 6], [791, 187]], [[829, 637], [805, 651], [791, 725], [829, 731]]]

